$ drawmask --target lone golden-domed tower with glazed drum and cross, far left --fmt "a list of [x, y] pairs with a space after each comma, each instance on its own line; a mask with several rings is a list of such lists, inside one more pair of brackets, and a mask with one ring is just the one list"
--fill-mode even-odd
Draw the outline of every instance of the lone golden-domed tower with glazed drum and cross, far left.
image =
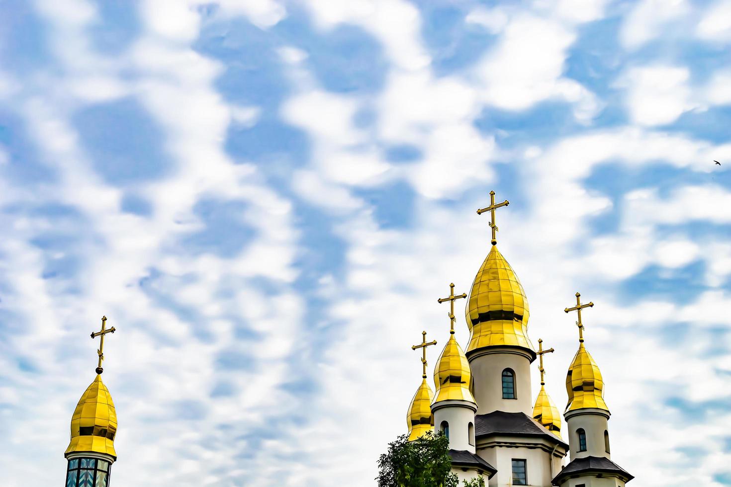
[[117, 432], [117, 413], [107, 386], [102, 383], [104, 336], [114, 333], [106, 328], [107, 317], [102, 317], [102, 329], [91, 334], [100, 337], [99, 364], [96, 377], [84, 392], [71, 418], [71, 442], [66, 449], [68, 461], [66, 487], [107, 487], [111, 467], [117, 459], [114, 437]]

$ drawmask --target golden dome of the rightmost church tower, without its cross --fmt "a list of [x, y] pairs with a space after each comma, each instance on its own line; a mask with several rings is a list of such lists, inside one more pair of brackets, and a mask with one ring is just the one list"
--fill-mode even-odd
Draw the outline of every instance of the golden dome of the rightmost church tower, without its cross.
[[604, 380], [594, 358], [586, 351], [583, 342], [579, 344], [574, 361], [566, 376], [566, 391], [569, 394], [567, 411], [583, 407], [596, 407], [609, 411], [604, 402]]

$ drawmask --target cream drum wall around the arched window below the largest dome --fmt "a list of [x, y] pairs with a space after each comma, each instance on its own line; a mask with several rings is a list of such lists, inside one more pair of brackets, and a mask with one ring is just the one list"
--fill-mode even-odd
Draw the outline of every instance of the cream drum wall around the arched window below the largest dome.
[[[469, 366], [474, 378], [477, 414], [505, 411], [531, 415], [533, 412], [531, 360], [527, 352], [515, 348], [491, 347], [471, 354]], [[516, 399], [502, 398], [504, 369], [512, 369], [515, 372]]]

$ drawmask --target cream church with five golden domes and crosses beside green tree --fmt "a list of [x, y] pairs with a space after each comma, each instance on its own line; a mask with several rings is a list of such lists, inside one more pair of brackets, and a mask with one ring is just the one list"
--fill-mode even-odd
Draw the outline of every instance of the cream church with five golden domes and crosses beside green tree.
[[[561, 415], [545, 391], [543, 355], [528, 336], [529, 306], [526, 292], [510, 264], [497, 248], [495, 212], [510, 202], [495, 203], [491, 191], [492, 248], [477, 271], [467, 294], [439, 299], [449, 302], [450, 337], [434, 367], [432, 391], [427, 382], [426, 349], [422, 349], [423, 376], [409, 406], [409, 441], [425, 432], [444, 432], [449, 440], [452, 472], [460, 479], [482, 478], [490, 487], [624, 487], [632, 475], [614, 463], [610, 453], [609, 407], [604, 381], [594, 358], [584, 345], [581, 311], [593, 302], [564, 311], [577, 312], [579, 342], [566, 377], [568, 403]], [[455, 340], [454, 304], [466, 299], [465, 318], [470, 331], [466, 351]], [[538, 358], [539, 394], [532, 402], [531, 364]], [[564, 458], [569, 457], [564, 465]]]

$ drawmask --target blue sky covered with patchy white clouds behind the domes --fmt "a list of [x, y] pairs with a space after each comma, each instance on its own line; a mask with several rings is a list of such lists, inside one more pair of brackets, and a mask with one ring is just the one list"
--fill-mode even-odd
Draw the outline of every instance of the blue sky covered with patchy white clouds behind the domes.
[[632, 486], [731, 486], [731, 1], [0, 9], [4, 486], [102, 315], [116, 485], [373, 486], [491, 189], [558, 406], [581, 291]]

